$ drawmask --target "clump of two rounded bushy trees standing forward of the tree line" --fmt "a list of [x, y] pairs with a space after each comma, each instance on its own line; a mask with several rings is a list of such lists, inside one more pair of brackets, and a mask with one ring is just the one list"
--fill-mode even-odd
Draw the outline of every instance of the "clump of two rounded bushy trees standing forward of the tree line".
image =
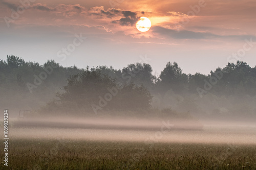
[[86, 110], [91, 110], [92, 105], [98, 105], [100, 100], [107, 103], [104, 106], [99, 104], [100, 110], [147, 109], [152, 100], [145, 87], [133, 83], [120, 85], [116, 79], [101, 74], [99, 69], [89, 70], [88, 67], [81, 74], [71, 76], [64, 90], [65, 93], [57, 93], [62, 104], [73, 103], [73, 106]]

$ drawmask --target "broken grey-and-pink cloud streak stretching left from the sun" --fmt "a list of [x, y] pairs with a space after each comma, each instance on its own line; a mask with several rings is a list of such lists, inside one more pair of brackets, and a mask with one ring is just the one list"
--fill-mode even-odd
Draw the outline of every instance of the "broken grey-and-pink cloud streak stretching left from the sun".
[[[18, 5], [6, 2], [3, 2], [3, 4], [7, 6], [5, 8], [17, 8]], [[95, 6], [87, 9], [86, 7], [80, 6], [79, 4], [58, 4], [56, 6], [49, 6], [48, 4], [37, 3], [32, 4], [29, 8], [31, 9], [30, 13], [33, 15], [29, 18], [24, 18], [26, 21], [32, 21], [37, 16], [37, 11], [48, 12], [43, 17], [40, 17], [41, 19], [45, 18], [43, 20], [48, 20], [48, 22], [50, 23], [52, 22], [52, 19], [61, 20], [70, 18], [70, 23], [75, 23], [74, 21], [83, 20], [90, 22], [90, 25], [103, 24], [105, 26], [108, 26], [109, 23], [113, 23], [119, 26], [134, 26], [139, 18], [137, 17], [136, 12], [114, 8], [104, 9], [103, 6]]]

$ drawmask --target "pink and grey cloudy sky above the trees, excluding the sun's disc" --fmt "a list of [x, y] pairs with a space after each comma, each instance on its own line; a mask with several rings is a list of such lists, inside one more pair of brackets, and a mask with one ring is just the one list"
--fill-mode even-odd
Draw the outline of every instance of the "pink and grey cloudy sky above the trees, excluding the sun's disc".
[[[256, 1], [0, 0], [0, 59], [79, 68], [121, 69], [146, 62], [159, 75], [168, 61], [186, 74], [228, 62], [256, 65]], [[140, 17], [152, 27], [136, 29]]]

